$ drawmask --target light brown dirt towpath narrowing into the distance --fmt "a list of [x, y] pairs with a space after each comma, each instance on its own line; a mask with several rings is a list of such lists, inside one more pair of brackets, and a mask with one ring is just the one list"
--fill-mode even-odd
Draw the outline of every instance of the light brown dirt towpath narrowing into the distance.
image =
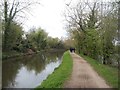
[[71, 77], [65, 82], [64, 88], [110, 88], [83, 58], [71, 53], [73, 58], [73, 71]]

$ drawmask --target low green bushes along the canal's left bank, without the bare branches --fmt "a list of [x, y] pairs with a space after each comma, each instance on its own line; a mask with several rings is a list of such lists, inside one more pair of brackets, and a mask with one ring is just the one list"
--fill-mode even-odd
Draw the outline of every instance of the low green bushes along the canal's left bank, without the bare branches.
[[[2, 33], [5, 36], [4, 30]], [[3, 48], [3, 58], [12, 57], [6, 52], [19, 52], [19, 53], [34, 53], [45, 49], [64, 49], [63, 41], [58, 38], [48, 36], [47, 32], [41, 28], [31, 28], [26, 34], [22, 30], [22, 26], [17, 22], [12, 22], [10, 25], [9, 39], [7, 45], [9, 46], [6, 51]], [[4, 46], [4, 39], [3, 46]], [[13, 53], [13, 56], [16, 54]]]

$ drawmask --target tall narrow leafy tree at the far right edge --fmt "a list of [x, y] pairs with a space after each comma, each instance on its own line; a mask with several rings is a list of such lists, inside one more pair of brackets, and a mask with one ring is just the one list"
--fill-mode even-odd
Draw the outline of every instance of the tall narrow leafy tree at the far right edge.
[[115, 53], [114, 40], [117, 35], [117, 3], [106, 3], [108, 8], [103, 12], [101, 19], [100, 38], [102, 43], [102, 57], [104, 64], [111, 64]]

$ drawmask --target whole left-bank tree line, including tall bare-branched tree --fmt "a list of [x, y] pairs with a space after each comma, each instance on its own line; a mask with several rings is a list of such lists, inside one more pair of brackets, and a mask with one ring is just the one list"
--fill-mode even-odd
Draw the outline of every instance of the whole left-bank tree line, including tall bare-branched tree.
[[38, 2], [26, 0], [26, 3], [24, 3], [19, 0], [4, 0], [0, 3], [0, 14], [3, 12], [2, 18], [0, 17], [2, 19], [2, 26], [0, 25], [0, 27], [2, 27], [3, 52], [28, 53], [46, 48], [64, 48], [59, 39], [51, 38], [49, 40], [47, 32], [41, 28], [31, 28], [27, 34], [23, 32], [22, 22], [19, 21], [19, 18], [24, 18], [27, 10], [33, 4], [38, 4]]

